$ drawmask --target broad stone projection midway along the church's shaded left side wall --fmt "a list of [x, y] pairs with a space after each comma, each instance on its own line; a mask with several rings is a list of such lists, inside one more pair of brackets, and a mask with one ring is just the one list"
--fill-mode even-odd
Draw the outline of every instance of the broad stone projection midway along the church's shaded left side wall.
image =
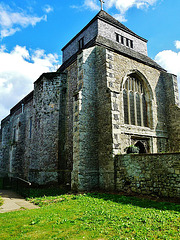
[[34, 84], [32, 146], [29, 181], [57, 183], [59, 172], [59, 111], [65, 74], [46, 73]]

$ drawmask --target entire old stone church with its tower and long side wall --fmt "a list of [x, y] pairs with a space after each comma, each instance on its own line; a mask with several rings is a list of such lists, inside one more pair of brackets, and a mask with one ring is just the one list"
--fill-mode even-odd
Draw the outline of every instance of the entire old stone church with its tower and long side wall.
[[0, 177], [114, 189], [114, 157], [130, 147], [180, 151], [177, 77], [146, 39], [101, 10], [62, 52], [1, 122]]

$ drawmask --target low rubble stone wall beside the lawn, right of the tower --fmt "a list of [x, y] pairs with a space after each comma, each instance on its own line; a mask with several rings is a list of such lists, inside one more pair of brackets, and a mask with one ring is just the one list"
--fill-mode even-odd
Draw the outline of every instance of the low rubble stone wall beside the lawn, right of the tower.
[[180, 198], [180, 153], [117, 155], [115, 189]]

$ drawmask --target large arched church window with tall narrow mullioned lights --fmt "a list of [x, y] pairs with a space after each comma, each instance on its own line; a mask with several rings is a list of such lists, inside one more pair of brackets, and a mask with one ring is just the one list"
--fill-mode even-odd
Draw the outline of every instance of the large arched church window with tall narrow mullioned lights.
[[124, 123], [148, 127], [147, 101], [143, 81], [136, 74], [123, 85]]

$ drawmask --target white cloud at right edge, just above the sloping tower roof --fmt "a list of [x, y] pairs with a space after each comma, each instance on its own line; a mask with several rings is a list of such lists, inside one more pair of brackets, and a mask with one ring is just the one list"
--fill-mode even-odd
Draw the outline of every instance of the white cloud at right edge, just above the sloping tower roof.
[[[178, 41], [180, 42], [180, 41]], [[176, 41], [177, 44], [177, 41]], [[178, 45], [179, 46], [179, 45]], [[176, 46], [178, 48], [178, 46]], [[155, 61], [168, 72], [176, 74], [180, 93], [180, 51], [164, 50], [155, 56]]]

